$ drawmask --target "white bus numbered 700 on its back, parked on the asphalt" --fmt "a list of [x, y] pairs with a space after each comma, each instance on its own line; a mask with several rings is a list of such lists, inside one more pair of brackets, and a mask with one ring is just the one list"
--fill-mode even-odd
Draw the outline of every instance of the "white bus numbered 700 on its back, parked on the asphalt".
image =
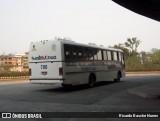
[[124, 67], [124, 54], [119, 49], [60, 39], [30, 45], [31, 83], [94, 86], [98, 81], [120, 81]]

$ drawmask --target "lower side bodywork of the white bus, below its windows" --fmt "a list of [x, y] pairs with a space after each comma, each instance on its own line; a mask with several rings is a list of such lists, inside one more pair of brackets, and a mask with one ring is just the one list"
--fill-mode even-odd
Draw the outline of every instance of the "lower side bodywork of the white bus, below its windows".
[[[115, 65], [113, 69], [109, 69], [108, 65], [111, 62], [103, 62], [101, 65], [96, 66], [88, 66], [90, 62], [72, 62], [71, 64], [66, 64], [65, 72], [66, 72], [66, 79], [64, 84], [72, 84], [72, 85], [79, 85], [79, 84], [86, 84], [88, 83], [89, 75], [94, 73], [96, 75], [96, 82], [98, 81], [113, 81], [117, 77], [117, 72], [120, 71], [122, 77], [125, 76], [125, 72], [121, 67], [120, 63], [112, 62], [112, 65]], [[84, 66], [80, 66], [84, 63]], [[97, 62], [94, 62], [97, 63]], [[68, 66], [67, 66], [68, 65]], [[117, 69], [119, 68], [119, 70]], [[74, 70], [74, 71], [73, 71]]]

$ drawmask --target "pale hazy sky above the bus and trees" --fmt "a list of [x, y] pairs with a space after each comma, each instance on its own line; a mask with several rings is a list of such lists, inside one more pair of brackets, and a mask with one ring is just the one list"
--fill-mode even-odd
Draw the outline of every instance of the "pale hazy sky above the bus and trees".
[[106, 47], [137, 37], [138, 51], [148, 52], [160, 49], [160, 22], [111, 0], [0, 0], [0, 54], [55, 37]]

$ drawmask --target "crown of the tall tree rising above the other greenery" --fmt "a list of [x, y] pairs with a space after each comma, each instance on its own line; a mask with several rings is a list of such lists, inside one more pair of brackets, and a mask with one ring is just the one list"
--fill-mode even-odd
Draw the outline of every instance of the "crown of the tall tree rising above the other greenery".
[[140, 40], [137, 40], [136, 37], [133, 37], [133, 38], [128, 38], [127, 42], [125, 42], [124, 45], [130, 48], [132, 53], [137, 53], [137, 48], [140, 43], [141, 43]]

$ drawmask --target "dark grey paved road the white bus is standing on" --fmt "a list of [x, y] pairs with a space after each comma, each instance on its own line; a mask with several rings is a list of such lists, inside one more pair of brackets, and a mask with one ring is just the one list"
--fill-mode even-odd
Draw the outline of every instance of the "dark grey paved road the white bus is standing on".
[[159, 81], [160, 75], [130, 75], [118, 83], [102, 81], [94, 88], [76, 86], [64, 89], [59, 84], [30, 83], [0, 85], [0, 112], [160, 112], [159, 99], [128, 93], [129, 89]]

